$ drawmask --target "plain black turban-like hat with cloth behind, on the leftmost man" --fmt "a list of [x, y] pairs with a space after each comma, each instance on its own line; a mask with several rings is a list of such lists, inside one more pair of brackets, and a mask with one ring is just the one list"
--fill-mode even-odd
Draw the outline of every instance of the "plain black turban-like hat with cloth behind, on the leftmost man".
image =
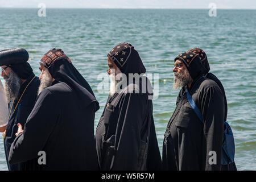
[[26, 80], [33, 72], [28, 60], [28, 52], [23, 48], [0, 51], [0, 66], [10, 65], [19, 78]]

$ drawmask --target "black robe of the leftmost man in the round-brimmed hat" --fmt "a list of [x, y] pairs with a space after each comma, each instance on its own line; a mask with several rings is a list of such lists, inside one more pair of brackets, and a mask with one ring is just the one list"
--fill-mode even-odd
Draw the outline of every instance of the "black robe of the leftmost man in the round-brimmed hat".
[[[9, 113], [11, 106], [13, 105], [11, 115], [9, 118], [9, 123], [6, 128], [6, 137], [4, 139], [4, 146], [5, 146], [5, 156], [8, 169], [10, 171], [23, 171], [26, 169], [26, 162], [18, 163], [18, 164], [10, 164], [8, 162], [8, 156], [10, 152], [11, 143], [13, 143], [15, 139], [15, 133], [18, 130], [17, 124], [20, 123], [24, 128], [24, 124], [27, 121], [28, 115], [30, 115], [31, 110], [33, 109], [36, 101], [36, 97], [38, 96], [38, 87], [40, 85], [40, 80], [38, 77], [35, 77], [34, 73], [32, 73], [27, 80], [20, 86], [18, 97], [15, 101], [11, 101], [9, 104]], [[34, 78], [34, 80], [32, 80]], [[32, 80], [32, 81], [31, 81]], [[31, 83], [30, 83], [31, 81]], [[30, 85], [28, 85], [30, 83]], [[27, 86], [28, 85], [28, 86]], [[24, 89], [27, 87], [26, 91], [24, 92], [23, 96], [22, 93]], [[16, 104], [19, 101], [20, 96], [22, 96], [19, 105], [16, 107]], [[13, 103], [14, 102], [14, 103]], [[14, 113], [13, 113], [14, 111]]]

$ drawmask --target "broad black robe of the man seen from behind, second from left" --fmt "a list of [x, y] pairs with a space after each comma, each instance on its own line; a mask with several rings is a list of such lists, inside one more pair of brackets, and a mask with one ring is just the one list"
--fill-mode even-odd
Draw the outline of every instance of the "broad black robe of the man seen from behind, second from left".
[[[94, 115], [93, 102], [85, 107], [70, 86], [55, 80], [39, 94], [9, 162], [32, 160], [31, 170], [97, 170]], [[46, 152], [46, 165], [38, 164], [39, 151]]]

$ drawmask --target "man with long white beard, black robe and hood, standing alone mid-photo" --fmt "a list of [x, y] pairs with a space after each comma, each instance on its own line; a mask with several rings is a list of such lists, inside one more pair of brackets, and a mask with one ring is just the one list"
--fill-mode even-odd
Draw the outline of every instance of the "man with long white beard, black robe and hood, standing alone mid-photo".
[[[141, 75], [146, 72], [142, 60], [131, 44], [120, 43], [108, 53], [108, 65], [110, 94], [96, 129], [100, 168], [160, 169], [150, 81], [144, 76], [137, 82], [129, 77], [129, 73]], [[122, 75], [121, 85], [117, 84], [119, 75]]]

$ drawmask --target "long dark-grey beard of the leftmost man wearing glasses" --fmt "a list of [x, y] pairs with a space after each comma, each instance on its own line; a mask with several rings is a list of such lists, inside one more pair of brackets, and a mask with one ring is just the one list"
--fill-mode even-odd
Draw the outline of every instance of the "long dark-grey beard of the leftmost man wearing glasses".
[[8, 102], [15, 100], [19, 94], [20, 86], [22, 81], [17, 76], [17, 74], [10, 69], [10, 72], [7, 76], [3, 77], [5, 79], [5, 92]]

